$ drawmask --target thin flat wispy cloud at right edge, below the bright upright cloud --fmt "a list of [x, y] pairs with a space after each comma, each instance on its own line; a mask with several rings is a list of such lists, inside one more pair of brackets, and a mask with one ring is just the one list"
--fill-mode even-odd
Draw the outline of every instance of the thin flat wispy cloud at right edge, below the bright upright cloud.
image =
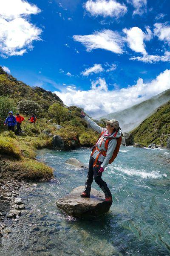
[[164, 55], [159, 56], [159, 55], [143, 55], [143, 56], [138, 56], [138, 57], [132, 57], [130, 60], [137, 60], [137, 61], [142, 61], [145, 63], [156, 63], [159, 61], [170, 61], [170, 52], [165, 52]]

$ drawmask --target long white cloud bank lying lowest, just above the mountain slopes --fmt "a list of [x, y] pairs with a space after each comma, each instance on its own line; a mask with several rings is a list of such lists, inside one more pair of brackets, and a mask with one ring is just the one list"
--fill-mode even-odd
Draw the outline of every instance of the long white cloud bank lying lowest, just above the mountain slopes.
[[[92, 82], [90, 90], [75, 90], [66, 87], [62, 92], [55, 92], [65, 105], [77, 105], [94, 118], [113, 113], [140, 103], [170, 88], [170, 70], [160, 73], [156, 79], [144, 83], [139, 78], [136, 84], [120, 90], [108, 90], [105, 79]], [[95, 100], [94, 100], [95, 99]]]

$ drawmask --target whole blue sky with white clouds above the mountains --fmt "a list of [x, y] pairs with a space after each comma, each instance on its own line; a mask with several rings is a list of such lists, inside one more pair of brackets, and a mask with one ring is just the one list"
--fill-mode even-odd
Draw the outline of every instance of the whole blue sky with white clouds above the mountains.
[[66, 105], [97, 117], [170, 88], [169, 0], [2, 1], [0, 65]]

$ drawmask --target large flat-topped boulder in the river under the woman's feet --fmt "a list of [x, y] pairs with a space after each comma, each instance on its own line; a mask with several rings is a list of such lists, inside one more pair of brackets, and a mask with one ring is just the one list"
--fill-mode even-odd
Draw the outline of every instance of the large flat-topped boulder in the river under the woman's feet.
[[56, 204], [68, 215], [73, 217], [98, 217], [107, 213], [111, 207], [111, 202], [105, 201], [103, 192], [91, 189], [90, 198], [81, 198], [80, 194], [84, 186], [73, 189], [70, 194], [57, 200]]

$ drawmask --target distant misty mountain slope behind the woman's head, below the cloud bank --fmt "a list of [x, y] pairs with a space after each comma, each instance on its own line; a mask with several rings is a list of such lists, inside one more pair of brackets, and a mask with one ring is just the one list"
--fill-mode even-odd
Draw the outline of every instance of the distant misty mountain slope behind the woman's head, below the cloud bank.
[[130, 108], [102, 116], [99, 119], [119, 120], [122, 131], [131, 131], [136, 128], [144, 119], [154, 113], [164, 103], [170, 100], [170, 89], [153, 96], [152, 98], [136, 104]]

